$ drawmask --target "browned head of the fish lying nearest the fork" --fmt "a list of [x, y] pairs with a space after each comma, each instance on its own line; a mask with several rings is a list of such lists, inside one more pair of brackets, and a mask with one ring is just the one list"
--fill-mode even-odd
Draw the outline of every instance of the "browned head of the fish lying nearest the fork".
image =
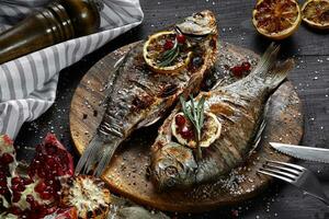
[[152, 157], [151, 177], [159, 191], [188, 187], [195, 183], [197, 163], [193, 151], [182, 145], [169, 142]]

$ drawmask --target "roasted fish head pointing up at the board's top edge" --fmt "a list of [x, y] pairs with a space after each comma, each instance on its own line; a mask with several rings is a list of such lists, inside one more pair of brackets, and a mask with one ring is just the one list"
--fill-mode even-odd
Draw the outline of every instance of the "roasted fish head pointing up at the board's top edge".
[[184, 19], [182, 23], [175, 25], [183, 34], [204, 36], [217, 33], [216, 18], [213, 12], [205, 10], [194, 13]]

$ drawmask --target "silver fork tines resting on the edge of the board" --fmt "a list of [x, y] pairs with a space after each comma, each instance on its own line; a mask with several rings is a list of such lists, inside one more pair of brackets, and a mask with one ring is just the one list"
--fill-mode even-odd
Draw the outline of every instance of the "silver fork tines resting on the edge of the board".
[[288, 183], [296, 182], [304, 171], [303, 166], [273, 160], [266, 160], [262, 168], [258, 170], [259, 173], [277, 177]]

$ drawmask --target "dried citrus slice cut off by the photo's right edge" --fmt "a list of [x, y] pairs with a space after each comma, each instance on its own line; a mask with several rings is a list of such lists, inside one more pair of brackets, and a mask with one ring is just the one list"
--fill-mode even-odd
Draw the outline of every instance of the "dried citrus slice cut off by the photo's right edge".
[[329, 28], [329, 0], [309, 0], [302, 8], [302, 18], [315, 28]]

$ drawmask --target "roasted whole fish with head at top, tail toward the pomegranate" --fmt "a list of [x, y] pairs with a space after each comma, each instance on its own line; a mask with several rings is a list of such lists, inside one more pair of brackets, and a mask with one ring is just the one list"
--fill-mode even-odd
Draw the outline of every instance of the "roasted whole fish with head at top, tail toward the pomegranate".
[[111, 74], [105, 114], [80, 158], [76, 173], [88, 173], [97, 168], [93, 174], [100, 175], [133, 130], [161, 118], [177, 103], [179, 95], [198, 91], [205, 72], [217, 56], [215, 16], [211, 11], [202, 11], [172, 28], [189, 41], [191, 61], [179, 72], [157, 73], [145, 62], [144, 42], [133, 47]]

